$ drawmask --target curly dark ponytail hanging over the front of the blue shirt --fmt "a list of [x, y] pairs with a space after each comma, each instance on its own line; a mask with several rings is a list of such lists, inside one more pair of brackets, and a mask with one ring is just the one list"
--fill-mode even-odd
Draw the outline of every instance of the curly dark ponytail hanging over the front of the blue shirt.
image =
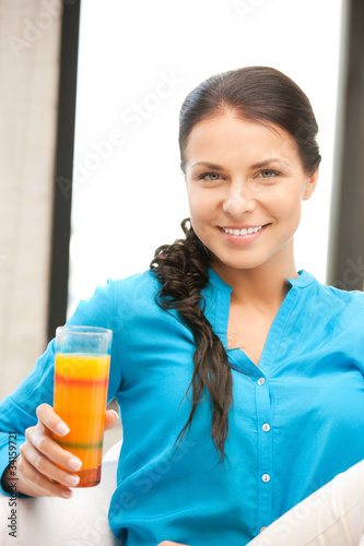
[[227, 415], [233, 397], [233, 378], [221, 340], [213, 333], [203, 313], [203, 306], [200, 306], [201, 289], [209, 281], [209, 254], [193, 228], [187, 226], [188, 223], [189, 218], [181, 222], [186, 238], [157, 248], [150, 266], [161, 283], [156, 296], [158, 306], [179, 312], [191, 329], [196, 344], [193, 375], [187, 390], [188, 393], [192, 387], [192, 410], [177, 437], [178, 446], [185, 432], [190, 429], [197, 404], [203, 389], [207, 389], [213, 406], [211, 438], [223, 463], [226, 456], [224, 444], [228, 434]]

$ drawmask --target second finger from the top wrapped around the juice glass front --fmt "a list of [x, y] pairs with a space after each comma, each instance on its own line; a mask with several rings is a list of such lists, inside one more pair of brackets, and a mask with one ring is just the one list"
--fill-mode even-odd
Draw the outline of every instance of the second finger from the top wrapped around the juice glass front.
[[[82, 461], [66, 449], [62, 449], [52, 438], [45, 435], [37, 425], [25, 429], [25, 438], [28, 444], [34, 446], [37, 451], [43, 453], [55, 464], [60, 464], [75, 472], [81, 468]], [[22, 447], [22, 449], [25, 450], [25, 456], [27, 447], [26, 442]]]

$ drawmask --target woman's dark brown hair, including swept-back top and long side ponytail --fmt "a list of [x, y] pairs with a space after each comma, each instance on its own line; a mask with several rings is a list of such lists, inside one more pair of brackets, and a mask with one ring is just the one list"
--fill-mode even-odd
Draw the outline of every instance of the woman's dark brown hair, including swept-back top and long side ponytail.
[[[318, 126], [307, 96], [275, 69], [247, 67], [213, 75], [186, 97], [179, 114], [183, 171], [188, 136], [193, 127], [224, 112], [235, 112], [243, 119], [285, 130], [296, 142], [306, 174], [312, 176], [317, 170], [321, 161], [316, 142]], [[233, 399], [232, 371], [221, 340], [203, 313], [201, 289], [209, 281], [209, 251], [188, 218], [183, 221], [181, 228], [185, 238], [157, 248], [151, 262], [151, 269], [161, 283], [156, 297], [158, 305], [166, 310], [177, 309], [191, 329], [196, 344], [193, 375], [188, 388], [192, 387], [192, 408], [177, 440], [180, 442], [191, 427], [197, 404], [207, 389], [212, 405], [211, 437], [223, 462]]]

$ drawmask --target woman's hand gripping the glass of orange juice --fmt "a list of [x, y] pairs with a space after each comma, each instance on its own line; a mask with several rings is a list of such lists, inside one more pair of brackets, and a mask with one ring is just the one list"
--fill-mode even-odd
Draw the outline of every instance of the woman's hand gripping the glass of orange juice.
[[[3, 474], [4, 489], [10, 487], [14, 477], [17, 477], [16, 491], [32, 497], [62, 497], [70, 498], [80, 478], [74, 471], [81, 468], [82, 462], [69, 451], [62, 449], [54, 439], [52, 432], [66, 436], [69, 427], [55, 413], [49, 404], [40, 404], [36, 415], [38, 423], [25, 430], [25, 442], [20, 448], [20, 455]], [[106, 411], [105, 430], [116, 425], [118, 415], [114, 410]], [[63, 427], [63, 430], [58, 427]], [[64, 471], [61, 465], [69, 471]], [[16, 475], [14, 476], [14, 468]], [[72, 472], [73, 471], [73, 472]]]

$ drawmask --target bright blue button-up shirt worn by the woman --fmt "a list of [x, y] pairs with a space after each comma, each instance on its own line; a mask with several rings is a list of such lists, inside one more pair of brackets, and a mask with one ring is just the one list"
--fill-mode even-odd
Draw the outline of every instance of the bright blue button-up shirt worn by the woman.
[[[69, 320], [114, 332], [108, 400], [119, 403], [124, 446], [109, 522], [127, 546], [244, 546], [364, 458], [364, 294], [321, 285], [306, 271], [287, 280], [257, 367], [242, 349], [228, 349], [232, 288], [209, 274], [204, 312], [233, 373], [224, 466], [208, 394], [175, 451], [190, 413], [195, 345], [178, 313], [156, 305], [152, 271], [109, 281]], [[1, 430], [23, 435], [37, 422], [36, 407], [52, 404], [54, 358], [50, 342], [2, 402]], [[0, 446], [2, 473], [8, 434]]]

